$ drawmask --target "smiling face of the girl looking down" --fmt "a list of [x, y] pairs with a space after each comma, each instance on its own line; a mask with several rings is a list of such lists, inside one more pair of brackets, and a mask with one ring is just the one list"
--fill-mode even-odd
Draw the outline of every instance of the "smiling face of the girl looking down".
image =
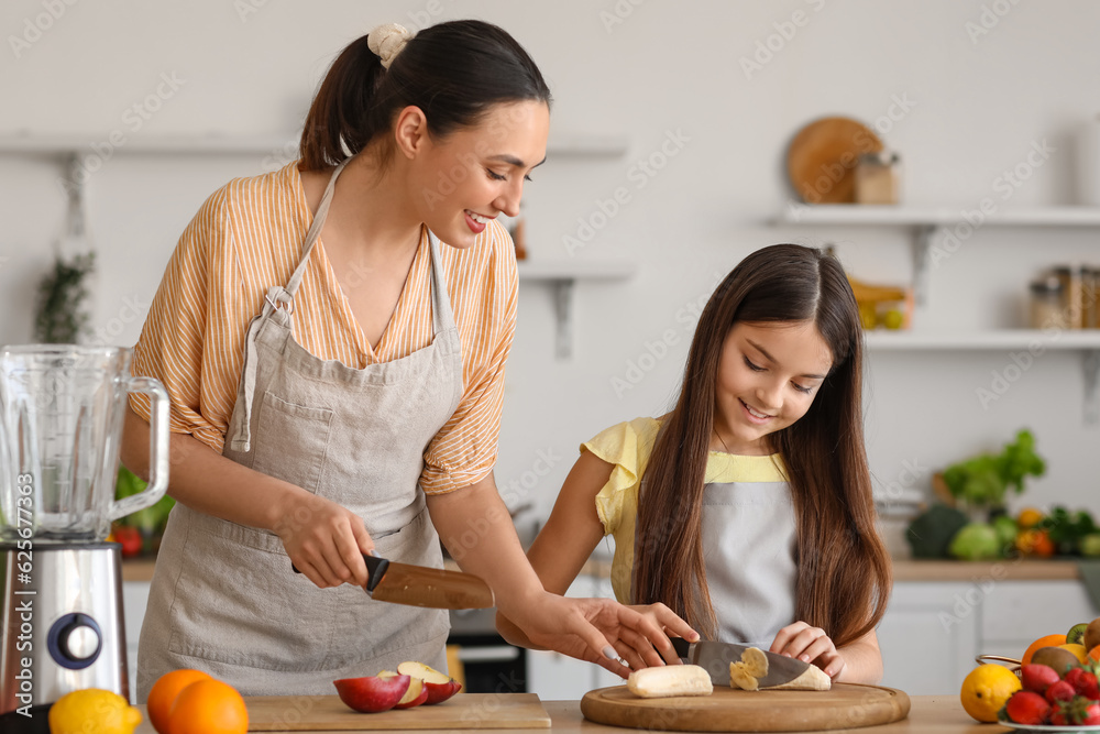
[[813, 321], [735, 324], [722, 347], [715, 395], [714, 427], [724, 448], [771, 453], [768, 435], [806, 414], [832, 365]]

